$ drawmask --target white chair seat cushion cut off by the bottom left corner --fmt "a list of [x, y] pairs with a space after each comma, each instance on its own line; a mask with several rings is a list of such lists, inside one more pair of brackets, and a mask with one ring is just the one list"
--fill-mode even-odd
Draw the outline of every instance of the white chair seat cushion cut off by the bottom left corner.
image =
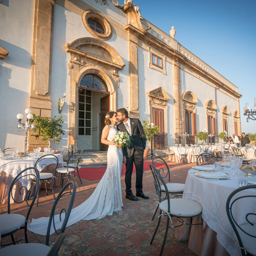
[[1, 248], [1, 255], [46, 256], [50, 247], [42, 243], [20, 243]]

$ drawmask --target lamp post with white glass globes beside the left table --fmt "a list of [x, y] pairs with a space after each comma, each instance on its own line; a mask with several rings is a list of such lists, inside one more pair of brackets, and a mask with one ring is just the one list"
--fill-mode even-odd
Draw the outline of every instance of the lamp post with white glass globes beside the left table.
[[18, 119], [18, 131], [25, 131], [25, 146], [24, 146], [24, 152], [25, 152], [25, 157], [27, 156], [27, 132], [28, 131], [33, 131], [35, 129], [35, 125], [32, 124], [31, 120], [33, 119], [33, 114], [31, 114], [31, 110], [29, 108], [25, 109], [26, 113], [26, 121], [25, 124], [22, 123], [22, 114], [16, 115]]

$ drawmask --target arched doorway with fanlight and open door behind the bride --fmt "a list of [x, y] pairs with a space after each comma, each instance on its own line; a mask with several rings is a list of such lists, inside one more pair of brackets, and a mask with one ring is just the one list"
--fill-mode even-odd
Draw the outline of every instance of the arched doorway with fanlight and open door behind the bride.
[[107, 150], [101, 143], [106, 113], [110, 110], [110, 93], [98, 75], [86, 74], [78, 90], [78, 150]]

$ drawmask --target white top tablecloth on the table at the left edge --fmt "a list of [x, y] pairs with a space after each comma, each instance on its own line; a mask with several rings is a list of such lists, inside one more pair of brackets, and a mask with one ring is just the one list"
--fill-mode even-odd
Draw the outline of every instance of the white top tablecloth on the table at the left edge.
[[[6, 172], [9, 175], [16, 177], [18, 175], [18, 173], [20, 173], [22, 170], [28, 168], [28, 167], [34, 167], [35, 166], [35, 162], [36, 160], [41, 157], [42, 155], [39, 155], [37, 158], [20, 158], [20, 157], [16, 157], [16, 158], [12, 158], [12, 159], [0, 159], [0, 171], [1, 172]], [[59, 164], [63, 164], [63, 157], [61, 154], [56, 155], [59, 161]], [[46, 165], [49, 165], [51, 163], [53, 163], [53, 161], [51, 161], [51, 159], [49, 158], [49, 160], [45, 159], [44, 163]], [[38, 170], [41, 171], [41, 170]], [[32, 170], [27, 172], [32, 173]], [[20, 179], [20, 182], [22, 183], [23, 186], [27, 186], [28, 182], [30, 181], [30, 177], [26, 176], [22, 179]]]

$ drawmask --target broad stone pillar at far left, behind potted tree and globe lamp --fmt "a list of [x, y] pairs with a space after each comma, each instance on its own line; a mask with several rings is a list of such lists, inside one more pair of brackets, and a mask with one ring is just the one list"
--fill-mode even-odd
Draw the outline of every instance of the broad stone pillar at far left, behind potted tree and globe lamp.
[[[51, 66], [51, 46], [53, 28], [53, 9], [55, 0], [35, 0], [33, 49], [31, 64], [31, 90], [29, 107], [32, 113], [51, 117], [51, 97], [49, 76]], [[35, 140], [32, 134], [28, 137], [28, 146], [34, 148], [45, 146], [40, 140]]]

